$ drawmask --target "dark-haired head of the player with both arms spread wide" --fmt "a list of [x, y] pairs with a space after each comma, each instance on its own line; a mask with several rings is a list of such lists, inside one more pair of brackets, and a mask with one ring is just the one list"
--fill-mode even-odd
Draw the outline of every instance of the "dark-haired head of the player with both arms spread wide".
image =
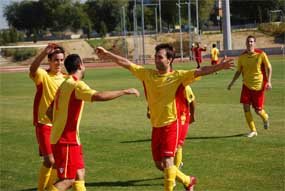
[[155, 65], [159, 71], [172, 68], [175, 59], [175, 50], [170, 44], [159, 44], [155, 47]]

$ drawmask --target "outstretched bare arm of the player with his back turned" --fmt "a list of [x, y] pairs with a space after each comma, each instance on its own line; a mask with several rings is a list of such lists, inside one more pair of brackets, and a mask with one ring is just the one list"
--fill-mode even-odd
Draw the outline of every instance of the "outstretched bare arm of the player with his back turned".
[[140, 95], [139, 91], [135, 88], [115, 90], [115, 91], [96, 92], [92, 96], [92, 101], [108, 101], [108, 100], [116, 99], [123, 95], [132, 95], [132, 94], [134, 94], [137, 97]]

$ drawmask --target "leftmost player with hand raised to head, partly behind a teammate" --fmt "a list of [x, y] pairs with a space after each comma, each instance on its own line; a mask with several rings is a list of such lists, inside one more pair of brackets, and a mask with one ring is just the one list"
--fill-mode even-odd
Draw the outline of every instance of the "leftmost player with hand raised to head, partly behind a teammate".
[[[41, 62], [48, 57], [49, 69], [40, 68]], [[30, 66], [30, 78], [36, 85], [36, 94], [33, 108], [33, 124], [39, 153], [43, 157], [38, 178], [38, 191], [43, 191], [57, 178], [56, 170], [53, 169], [54, 158], [50, 145], [50, 132], [52, 123], [46, 116], [46, 110], [54, 99], [59, 85], [64, 80], [61, 72], [65, 53], [64, 49], [56, 44], [49, 44]]]

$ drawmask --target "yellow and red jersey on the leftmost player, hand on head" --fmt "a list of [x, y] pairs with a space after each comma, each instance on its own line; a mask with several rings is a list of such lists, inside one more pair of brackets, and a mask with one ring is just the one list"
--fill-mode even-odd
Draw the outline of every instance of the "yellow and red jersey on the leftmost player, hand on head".
[[64, 75], [50, 74], [46, 70], [38, 68], [35, 76], [30, 74], [30, 78], [35, 82], [36, 94], [34, 98], [33, 123], [51, 125], [51, 121], [46, 115], [46, 111], [52, 103], [56, 90], [64, 81]]

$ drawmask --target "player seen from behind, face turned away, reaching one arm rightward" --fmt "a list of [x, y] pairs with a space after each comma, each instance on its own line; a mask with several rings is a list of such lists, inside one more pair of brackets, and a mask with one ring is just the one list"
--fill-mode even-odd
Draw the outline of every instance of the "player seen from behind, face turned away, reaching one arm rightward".
[[77, 54], [68, 55], [64, 66], [69, 76], [59, 87], [52, 109], [51, 144], [59, 181], [49, 191], [64, 191], [71, 186], [75, 191], [85, 191], [85, 167], [79, 138], [84, 101], [107, 101], [131, 94], [139, 96], [139, 92], [134, 88], [102, 92], [91, 89], [82, 81], [85, 67]]

